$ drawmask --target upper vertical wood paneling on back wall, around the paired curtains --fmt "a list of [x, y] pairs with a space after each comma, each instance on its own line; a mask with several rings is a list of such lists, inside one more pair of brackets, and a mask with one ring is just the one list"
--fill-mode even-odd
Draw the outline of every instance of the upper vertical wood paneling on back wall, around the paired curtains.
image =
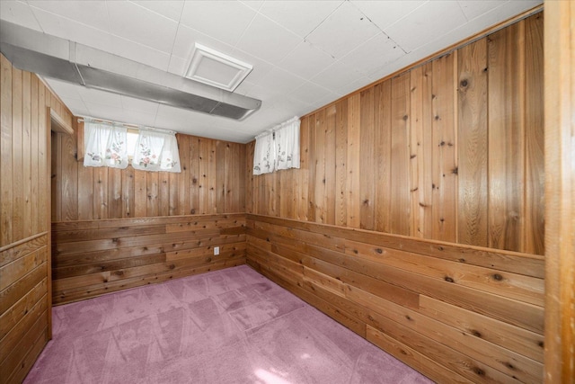
[[[76, 129], [81, 132], [82, 122]], [[82, 137], [82, 135], [80, 135]], [[243, 212], [245, 145], [177, 135], [181, 173], [84, 167], [75, 136], [52, 135], [52, 221]]]

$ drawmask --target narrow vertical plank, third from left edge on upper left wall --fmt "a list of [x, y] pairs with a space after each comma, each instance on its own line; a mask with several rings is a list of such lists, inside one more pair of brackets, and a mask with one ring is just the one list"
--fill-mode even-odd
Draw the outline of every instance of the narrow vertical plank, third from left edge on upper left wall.
[[32, 236], [31, 73], [22, 72], [22, 238]]

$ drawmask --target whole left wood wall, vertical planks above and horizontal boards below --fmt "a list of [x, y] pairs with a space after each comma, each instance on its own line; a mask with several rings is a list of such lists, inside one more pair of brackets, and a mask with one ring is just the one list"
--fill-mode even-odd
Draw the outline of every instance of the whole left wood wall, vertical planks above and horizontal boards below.
[[49, 340], [49, 113], [71, 113], [0, 55], [0, 381], [20, 383]]

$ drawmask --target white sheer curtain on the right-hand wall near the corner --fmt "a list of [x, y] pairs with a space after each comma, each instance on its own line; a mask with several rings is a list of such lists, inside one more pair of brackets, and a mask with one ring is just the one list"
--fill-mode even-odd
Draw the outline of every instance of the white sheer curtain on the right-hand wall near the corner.
[[295, 117], [255, 138], [253, 174], [299, 168], [299, 118]]

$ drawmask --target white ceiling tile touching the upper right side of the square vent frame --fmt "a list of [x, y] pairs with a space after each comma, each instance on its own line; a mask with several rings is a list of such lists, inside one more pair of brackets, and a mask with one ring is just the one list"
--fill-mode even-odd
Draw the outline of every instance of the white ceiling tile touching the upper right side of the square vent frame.
[[243, 33], [236, 48], [271, 64], [278, 64], [301, 40], [296, 34], [267, 17], [257, 15]]

